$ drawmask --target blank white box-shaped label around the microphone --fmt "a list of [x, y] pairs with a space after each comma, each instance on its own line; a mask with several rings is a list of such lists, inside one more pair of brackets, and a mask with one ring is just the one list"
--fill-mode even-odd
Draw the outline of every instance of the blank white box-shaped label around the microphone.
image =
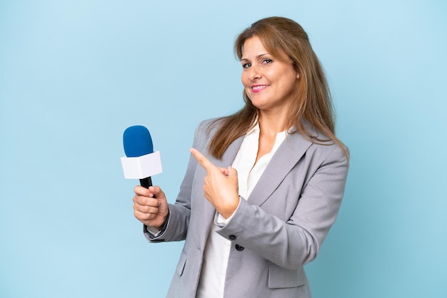
[[138, 158], [121, 158], [124, 178], [143, 179], [162, 173], [160, 151], [139, 156]]

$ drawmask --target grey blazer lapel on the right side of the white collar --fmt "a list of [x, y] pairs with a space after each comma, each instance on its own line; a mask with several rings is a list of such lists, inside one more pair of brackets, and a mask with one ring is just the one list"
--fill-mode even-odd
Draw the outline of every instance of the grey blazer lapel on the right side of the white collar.
[[251, 195], [247, 198], [248, 202], [261, 206], [298, 163], [311, 144], [311, 141], [306, 140], [300, 133], [288, 134], [286, 140], [271, 158]]

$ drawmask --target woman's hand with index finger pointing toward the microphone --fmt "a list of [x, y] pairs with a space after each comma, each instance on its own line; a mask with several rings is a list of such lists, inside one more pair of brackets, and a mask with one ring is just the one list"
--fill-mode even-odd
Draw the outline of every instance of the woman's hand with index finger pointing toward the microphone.
[[219, 168], [209, 161], [199, 150], [189, 150], [206, 170], [204, 192], [206, 200], [224, 218], [230, 217], [239, 205], [238, 173], [235, 168]]

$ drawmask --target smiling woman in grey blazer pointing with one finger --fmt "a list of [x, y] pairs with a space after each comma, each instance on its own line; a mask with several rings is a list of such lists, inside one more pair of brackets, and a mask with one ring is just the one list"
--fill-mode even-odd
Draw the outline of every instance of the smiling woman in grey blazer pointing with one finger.
[[168, 297], [311, 297], [304, 264], [336, 220], [348, 152], [306, 32], [271, 17], [235, 43], [246, 105], [196, 129], [179, 197], [135, 187], [150, 242], [186, 240]]

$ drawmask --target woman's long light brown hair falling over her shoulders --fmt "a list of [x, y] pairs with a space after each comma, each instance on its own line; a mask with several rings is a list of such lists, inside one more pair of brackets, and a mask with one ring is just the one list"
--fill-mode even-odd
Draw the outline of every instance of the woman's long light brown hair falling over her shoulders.
[[[271, 56], [278, 59], [286, 53], [293, 68], [300, 75], [293, 89], [287, 127], [295, 128], [294, 133], [301, 133], [313, 143], [336, 143], [346, 155], [343, 144], [335, 135], [334, 111], [326, 76], [313, 52], [306, 31], [295, 21], [283, 17], [273, 16], [256, 21], [236, 38], [234, 51], [239, 60], [242, 58], [243, 44], [253, 36], [261, 40]], [[245, 106], [240, 111], [218, 118], [209, 126], [208, 131], [211, 132], [218, 125], [208, 148], [215, 158], [221, 159], [228, 146], [256, 124], [259, 111], [245, 91], [243, 101]], [[311, 135], [303, 120], [323, 133], [324, 137]]]

